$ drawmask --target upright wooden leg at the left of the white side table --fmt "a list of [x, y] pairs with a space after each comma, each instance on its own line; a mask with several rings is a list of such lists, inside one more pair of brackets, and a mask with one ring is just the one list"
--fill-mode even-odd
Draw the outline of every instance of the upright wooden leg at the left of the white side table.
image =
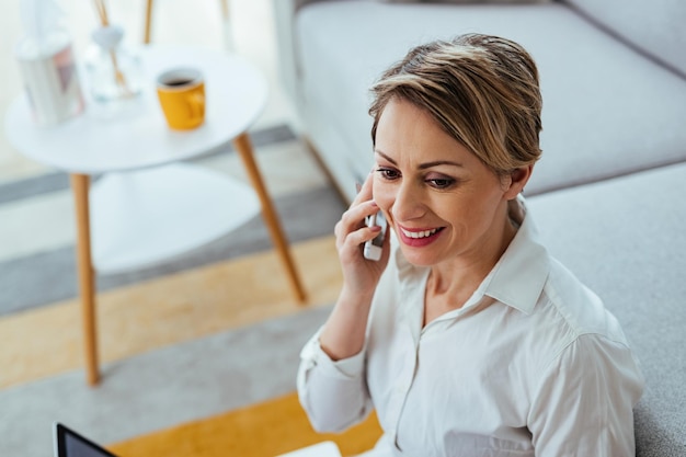
[[91, 258], [91, 229], [89, 214], [90, 176], [71, 174], [71, 190], [77, 216], [77, 264], [79, 295], [81, 296], [81, 324], [85, 355], [85, 378], [90, 386], [100, 382], [98, 368], [98, 332], [95, 325], [95, 277]]

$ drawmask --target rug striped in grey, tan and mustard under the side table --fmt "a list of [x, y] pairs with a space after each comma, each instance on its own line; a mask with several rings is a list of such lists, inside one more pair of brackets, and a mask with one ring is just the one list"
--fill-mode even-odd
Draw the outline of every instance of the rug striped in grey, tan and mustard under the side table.
[[[270, 421], [285, 426], [274, 427], [273, 437], [284, 446], [221, 455], [290, 450], [284, 433], [294, 446], [317, 439], [293, 392], [299, 350], [341, 285], [332, 230], [344, 206], [287, 127], [252, 137], [307, 305], [294, 301], [259, 216], [172, 261], [99, 275], [96, 388], [85, 386], [81, 369], [68, 179], [48, 172], [0, 184], [0, 456], [49, 456], [54, 421], [99, 443], [119, 443], [115, 448], [132, 457], [161, 455], [134, 449], [169, 433], [183, 448], [186, 433], [208, 439], [215, 430], [225, 432], [211, 446], [230, 438], [242, 449], [272, 439]], [[196, 163], [247, 182], [231, 150]], [[371, 443], [375, 427], [371, 421], [347, 452]], [[199, 442], [185, 445], [193, 443]], [[220, 455], [214, 449], [194, 455]]]

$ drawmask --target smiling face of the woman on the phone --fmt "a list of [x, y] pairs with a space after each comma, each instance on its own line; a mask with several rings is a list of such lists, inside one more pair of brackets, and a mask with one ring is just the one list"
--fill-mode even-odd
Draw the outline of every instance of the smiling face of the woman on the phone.
[[410, 263], [479, 262], [502, 248], [506, 203], [517, 192], [426, 112], [391, 100], [378, 122], [375, 157], [374, 199]]

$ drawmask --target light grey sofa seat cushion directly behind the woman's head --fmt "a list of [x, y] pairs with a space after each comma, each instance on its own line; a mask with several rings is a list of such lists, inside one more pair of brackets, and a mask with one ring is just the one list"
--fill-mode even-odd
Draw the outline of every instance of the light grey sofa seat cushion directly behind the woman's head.
[[[364, 176], [371, 167], [368, 89], [380, 72], [411, 46], [466, 32], [513, 38], [538, 62], [544, 155], [529, 195], [686, 160], [686, 80], [561, 3], [328, 1], [302, 8], [296, 27], [306, 125], [332, 133], [309, 132], [325, 161], [340, 161], [336, 175]], [[327, 147], [339, 148], [336, 157], [327, 158]], [[355, 170], [339, 169], [346, 167]], [[339, 184], [354, 195], [352, 180]]]

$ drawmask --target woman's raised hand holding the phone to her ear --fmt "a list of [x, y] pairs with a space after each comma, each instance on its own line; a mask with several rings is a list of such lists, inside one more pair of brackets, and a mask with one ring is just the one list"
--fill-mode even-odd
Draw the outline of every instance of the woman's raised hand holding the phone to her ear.
[[379, 212], [371, 198], [374, 174], [369, 174], [359, 193], [335, 226], [336, 249], [343, 270], [343, 292], [371, 299], [381, 273], [388, 264], [389, 236], [386, 233], [379, 261], [365, 259], [364, 243], [379, 235], [379, 226], [367, 227], [365, 218]]

